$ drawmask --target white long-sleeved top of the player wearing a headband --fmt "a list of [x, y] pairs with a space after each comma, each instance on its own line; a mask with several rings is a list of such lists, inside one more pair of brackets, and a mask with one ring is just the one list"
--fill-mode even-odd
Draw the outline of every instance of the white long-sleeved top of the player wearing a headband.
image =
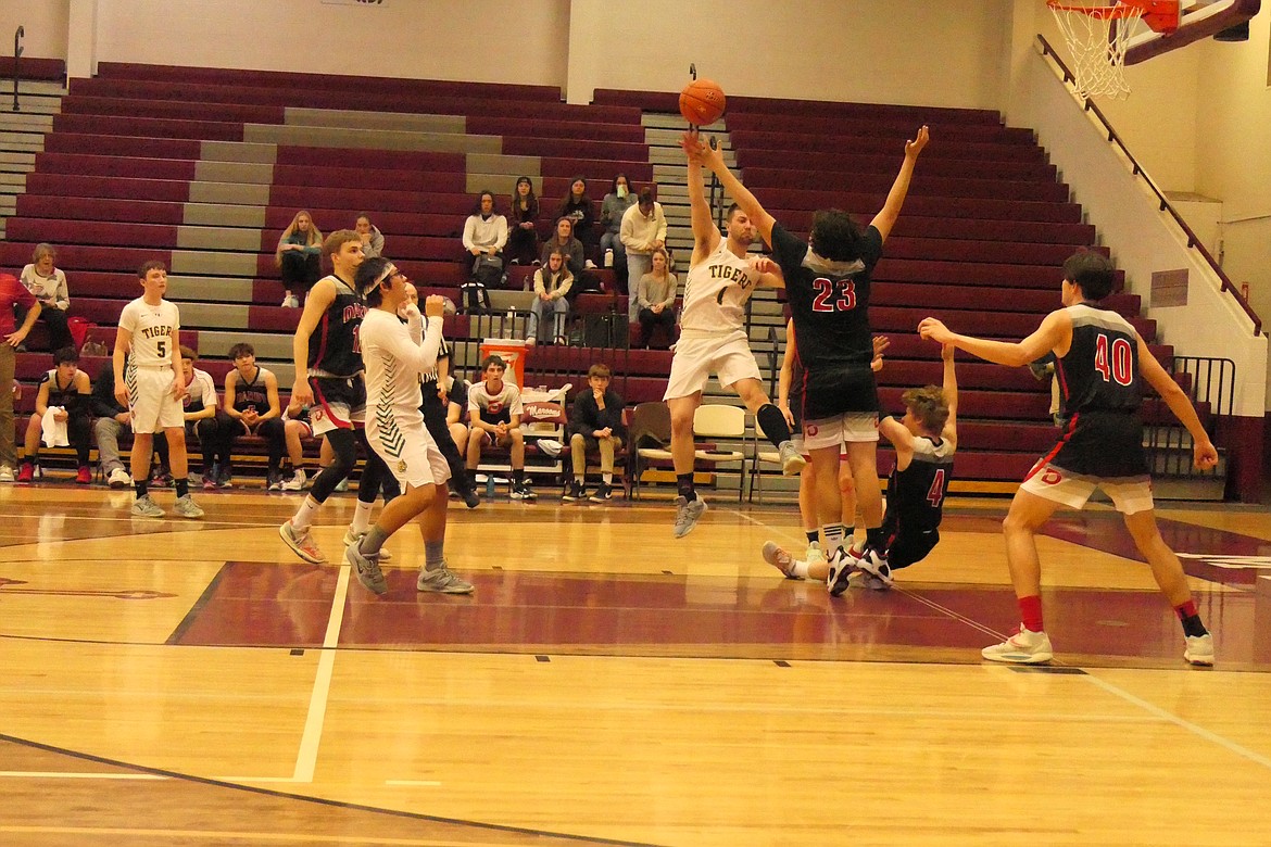
[[367, 411], [374, 410], [367, 414], [367, 430], [388, 432], [395, 424], [423, 424], [419, 376], [437, 367], [442, 323], [441, 317], [426, 320], [427, 334], [417, 339], [413, 333], [422, 329], [418, 321], [408, 325], [383, 309], [366, 311], [361, 330], [362, 359], [366, 363]]

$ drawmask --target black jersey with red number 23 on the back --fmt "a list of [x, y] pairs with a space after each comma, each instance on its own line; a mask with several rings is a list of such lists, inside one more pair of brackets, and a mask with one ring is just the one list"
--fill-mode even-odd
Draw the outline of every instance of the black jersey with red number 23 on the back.
[[866, 230], [860, 258], [830, 262], [812, 253], [806, 241], [780, 223], [773, 226], [773, 259], [785, 277], [785, 295], [794, 319], [798, 357], [808, 370], [825, 366], [868, 364], [873, 358], [869, 334], [869, 274], [882, 257], [882, 234]]

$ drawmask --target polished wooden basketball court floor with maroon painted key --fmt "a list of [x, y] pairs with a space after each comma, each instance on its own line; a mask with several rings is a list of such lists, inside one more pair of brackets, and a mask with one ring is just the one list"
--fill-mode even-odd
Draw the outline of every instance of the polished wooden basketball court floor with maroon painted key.
[[1271, 843], [1262, 509], [1160, 512], [1214, 669], [1103, 508], [1041, 540], [1056, 660], [1010, 668], [1004, 500], [839, 599], [759, 557], [789, 507], [458, 508], [475, 594], [418, 594], [408, 528], [376, 598], [282, 546], [294, 497], [200, 502], [0, 486], [0, 843]]

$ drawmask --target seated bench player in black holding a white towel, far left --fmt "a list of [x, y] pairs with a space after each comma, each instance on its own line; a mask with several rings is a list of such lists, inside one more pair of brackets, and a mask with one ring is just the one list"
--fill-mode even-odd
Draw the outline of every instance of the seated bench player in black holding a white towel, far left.
[[53, 370], [44, 375], [36, 395], [36, 414], [27, 424], [27, 455], [18, 471], [19, 483], [36, 479], [39, 442], [50, 447], [74, 447], [79, 474], [75, 481], [88, 485], [93, 471], [88, 466], [92, 448], [92, 391], [88, 373], [79, 370], [79, 353], [64, 347], [53, 353]]

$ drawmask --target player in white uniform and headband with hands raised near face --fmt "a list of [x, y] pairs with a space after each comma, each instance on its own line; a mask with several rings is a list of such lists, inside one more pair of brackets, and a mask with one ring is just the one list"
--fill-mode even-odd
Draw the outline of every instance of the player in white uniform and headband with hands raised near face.
[[417, 518], [423, 535], [425, 564], [416, 580], [422, 592], [468, 594], [473, 585], [446, 566], [446, 480], [450, 467], [428, 434], [419, 410], [419, 377], [437, 366], [441, 345], [444, 298], [425, 301], [425, 319], [418, 306], [405, 307], [407, 323], [398, 309], [407, 300], [405, 274], [376, 257], [357, 269], [357, 292], [365, 297], [361, 347], [366, 364], [366, 439], [402, 485], [402, 495], [384, 505], [379, 519], [357, 544], [344, 549], [358, 582], [376, 594], [388, 590], [380, 570], [380, 549], [394, 532]]

